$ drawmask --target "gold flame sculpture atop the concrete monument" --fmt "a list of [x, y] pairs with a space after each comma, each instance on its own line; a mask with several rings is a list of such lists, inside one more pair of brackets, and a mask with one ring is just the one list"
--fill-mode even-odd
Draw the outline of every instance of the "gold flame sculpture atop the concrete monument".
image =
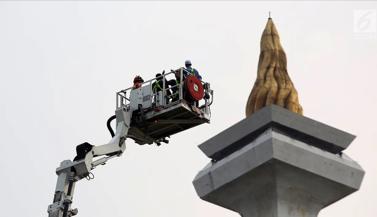
[[269, 104], [303, 114], [297, 90], [288, 76], [287, 56], [271, 18], [262, 34], [257, 78], [247, 101], [246, 117]]

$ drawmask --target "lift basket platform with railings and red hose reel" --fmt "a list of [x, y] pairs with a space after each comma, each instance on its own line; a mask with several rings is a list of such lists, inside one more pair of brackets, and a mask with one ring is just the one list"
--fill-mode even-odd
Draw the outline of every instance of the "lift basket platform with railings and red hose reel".
[[[213, 91], [210, 89], [209, 83], [205, 83], [195, 77], [196, 82], [191, 82], [191, 86], [188, 86], [188, 89], [194, 92], [196, 88], [199, 88], [199, 85], [203, 87], [198, 89], [198, 92], [201, 92], [201, 90], [204, 92], [204, 94], [201, 94], [201, 97], [199, 97], [199, 99], [204, 99], [204, 105], [200, 107], [195, 107], [192, 105], [193, 103], [184, 100], [184, 94], [181, 94], [184, 92], [182, 90], [184, 85], [179, 86], [178, 93], [167, 96], [166, 90], [171, 90], [178, 85], [165, 89], [165, 76], [179, 72], [181, 81], [183, 81], [182, 73], [187, 73], [187, 71], [183, 70], [184, 69], [179, 68], [178, 70], [171, 71], [155, 79], [148, 80], [141, 83], [142, 86], [138, 89], [132, 90], [134, 87], [132, 86], [116, 93], [116, 109], [128, 108], [133, 114], [136, 114], [133, 116], [136, 119], [132, 120], [129, 135], [136, 138], [143, 138], [147, 130], [146, 140], [135, 140], [139, 145], [158, 143], [160, 139], [165, 139], [173, 134], [203, 123], [210, 123], [209, 106], [213, 103], [213, 98], [211, 102], [209, 102], [208, 99], [210, 99], [210, 95], [213, 95]], [[191, 73], [188, 74], [191, 75]], [[160, 77], [162, 77], [164, 83], [164, 91], [153, 93], [152, 83]], [[188, 77], [186, 79], [188, 80]], [[189, 91], [187, 91], [187, 93], [189, 93]], [[179, 97], [178, 101], [169, 101], [168, 103], [167, 100], [163, 100], [169, 99], [175, 94], [179, 95], [177, 96]], [[132, 100], [130, 100], [130, 98]], [[189, 96], [186, 98], [189, 98]], [[143, 112], [141, 112], [139, 105], [143, 105]], [[145, 121], [143, 121], [143, 116]]]

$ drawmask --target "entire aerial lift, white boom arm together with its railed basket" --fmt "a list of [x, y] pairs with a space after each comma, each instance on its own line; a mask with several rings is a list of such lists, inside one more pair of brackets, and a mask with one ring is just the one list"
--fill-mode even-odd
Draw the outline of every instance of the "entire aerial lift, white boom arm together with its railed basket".
[[[165, 77], [171, 73], [180, 74], [179, 84], [165, 88]], [[183, 73], [188, 74], [182, 80]], [[152, 91], [152, 83], [162, 77], [163, 90]], [[183, 83], [183, 84], [182, 84]], [[125, 141], [130, 138], [139, 145], [153, 144], [157, 146], [169, 143], [166, 138], [203, 123], [210, 123], [210, 105], [213, 103], [213, 90], [195, 75], [184, 68], [165, 73], [162, 76], [141, 83], [116, 93], [115, 115], [107, 121], [112, 139], [107, 144], [93, 146], [83, 143], [76, 147], [77, 155], [73, 162], [66, 160], [56, 169], [58, 175], [54, 200], [48, 206], [49, 217], [71, 217], [77, 209], [71, 208], [75, 182], [90, 177], [91, 171], [98, 165], [106, 164], [107, 160], [121, 156], [126, 150]], [[166, 91], [178, 87], [178, 92], [167, 95]], [[177, 100], [172, 102], [172, 97]], [[211, 99], [211, 101], [210, 101]], [[204, 101], [201, 106], [195, 102]], [[116, 132], [110, 123], [116, 119]], [[105, 156], [94, 159], [98, 156]]]

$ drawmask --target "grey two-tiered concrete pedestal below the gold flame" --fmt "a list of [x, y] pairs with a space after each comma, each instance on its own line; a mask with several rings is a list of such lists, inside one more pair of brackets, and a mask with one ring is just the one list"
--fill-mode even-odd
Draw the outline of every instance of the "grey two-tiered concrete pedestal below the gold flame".
[[[266, 114], [270, 118], [261, 120], [268, 122], [262, 124], [268, 128], [251, 129], [251, 125], [258, 125], [258, 117]], [[288, 116], [277, 123], [276, 118], [281, 119], [282, 114]], [[296, 123], [292, 124], [292, 120]], [[207, 156], [217, 158], [193, 181], [201, 199], [243, 217], [316, 217], [321, 209], [359, 190], [363, 169], [350, 159], [320, 148], [342, 151], [354, 136], [275, 105], [242, 121], [199, 146]], [[240, 123], [241, 128], [251, 132], [239, 132]], [[301, 124], [301, 129], [293, 129], [294, 124]], [[309, 128], [302, 132], [305, 124], [316, 126], [312, 129], [317, 132], [310, 132]], [[320, 138], [313, 135], [320, 129], [332, 137], [325, 133]], [[216, 146], [213, 141], [223, 143]]]

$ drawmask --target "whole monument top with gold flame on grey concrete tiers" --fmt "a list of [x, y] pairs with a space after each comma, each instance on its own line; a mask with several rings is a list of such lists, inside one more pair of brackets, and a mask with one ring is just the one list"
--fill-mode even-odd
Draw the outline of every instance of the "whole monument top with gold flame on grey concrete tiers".
[[339, 154], [356, 136], [300, 114], [268, 19], [248, 117], [199, 145], [212, 160], [193, 180], [198, 196], [242, 217], [317, 217], [358, 191], [365, 171]]

